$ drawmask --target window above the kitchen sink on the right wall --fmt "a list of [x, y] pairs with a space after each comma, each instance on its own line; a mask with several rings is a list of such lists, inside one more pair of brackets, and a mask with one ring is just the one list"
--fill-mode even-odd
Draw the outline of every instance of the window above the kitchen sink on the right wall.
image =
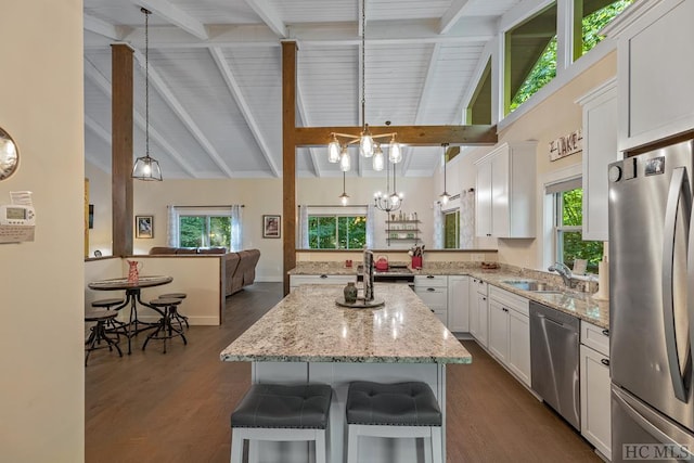
[[548, 187], [554, 203], [555, 260], [574, 267], [576, 259], [588, 261], [588, 273], [597, 273], [597, 263], [603, 257], [602, 241], [583, 241], [582, 202], [580, 179]]

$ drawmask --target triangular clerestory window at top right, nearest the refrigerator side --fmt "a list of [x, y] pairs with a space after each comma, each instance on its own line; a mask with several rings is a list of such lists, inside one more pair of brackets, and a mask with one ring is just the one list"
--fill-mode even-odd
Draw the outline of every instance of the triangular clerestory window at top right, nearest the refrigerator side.
[[600, 31], [633, 0], [575, 0], [574, 17], [576, 18], [574, 37], [574, 61], [578, 60], [595, 47], [603, 36]]

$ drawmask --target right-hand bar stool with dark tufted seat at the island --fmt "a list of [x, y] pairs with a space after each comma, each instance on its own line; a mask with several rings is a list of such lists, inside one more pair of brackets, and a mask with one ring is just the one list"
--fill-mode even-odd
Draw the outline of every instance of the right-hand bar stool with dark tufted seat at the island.
[[[396, 384], [358, 381], [347, 393], [347, 462], [359, 461], [359, 437], [425, 438], [434, 463], [442, 461], [441, 410], [425, 383]], [[424, 461], [429, 461], [424, 449]]]

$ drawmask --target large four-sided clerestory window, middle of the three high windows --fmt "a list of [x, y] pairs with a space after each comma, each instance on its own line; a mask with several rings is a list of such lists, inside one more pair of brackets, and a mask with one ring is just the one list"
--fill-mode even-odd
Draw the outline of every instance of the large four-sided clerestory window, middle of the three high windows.
[[504, 59], [509, 114], [556, 76], [556, 3], [506, 33]]

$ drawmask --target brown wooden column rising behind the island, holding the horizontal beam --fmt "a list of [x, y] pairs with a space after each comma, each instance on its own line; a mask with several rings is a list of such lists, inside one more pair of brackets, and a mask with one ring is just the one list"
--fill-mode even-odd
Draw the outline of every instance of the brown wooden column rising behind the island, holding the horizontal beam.
[[282, 224], [284, 295], [296, 267], [296, 42], [282, 42]]

